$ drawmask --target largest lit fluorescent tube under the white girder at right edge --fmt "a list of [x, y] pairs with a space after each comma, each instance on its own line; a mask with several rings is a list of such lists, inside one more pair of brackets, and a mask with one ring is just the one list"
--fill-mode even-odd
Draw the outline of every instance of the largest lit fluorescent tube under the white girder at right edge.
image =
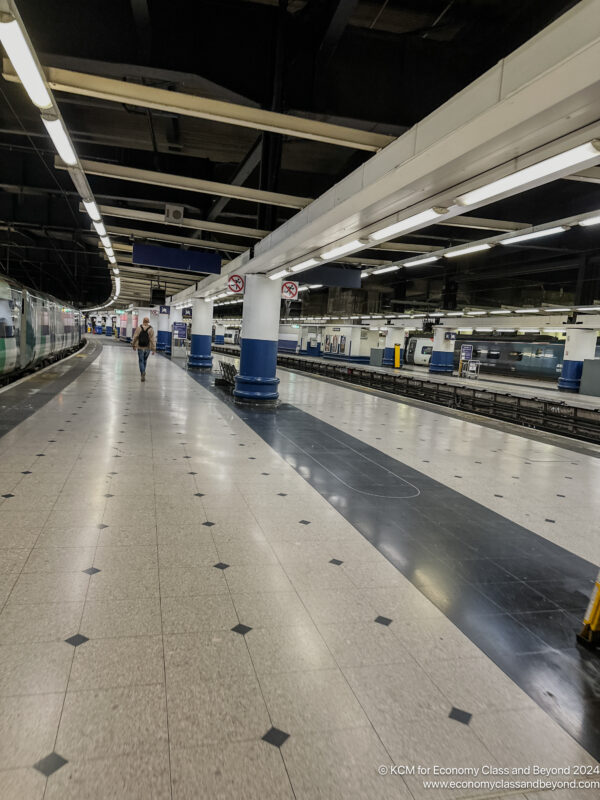
[[565, 170], [580, 166], [587, 161], [595, 161], [598, 158], [600, 158], [600, 142], [593, 139], [578, 147], [573, 147], [571, 150], [566, 150], [564, 153], [552, 156], [552, 158], [538, 161], [537, 164], [532, 164], [530, 167], [517, 170], [512, 175], [492, 181], [480, 189], [465, 192], [457, 198], [457, 203], [462, 206], [482, 203], [499, 194], [504, 194], [504, 192], [524, 188], [528, 184], [536, 183], [541, 178], [550, 178], [552, 175], [565, 172]]

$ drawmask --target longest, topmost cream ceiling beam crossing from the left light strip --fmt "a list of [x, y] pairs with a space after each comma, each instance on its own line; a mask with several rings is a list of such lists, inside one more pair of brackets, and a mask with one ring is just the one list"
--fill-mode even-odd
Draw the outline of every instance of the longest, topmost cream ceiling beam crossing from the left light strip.
[[[299, 139], [312, 139], [372, 153], [378, 152], [394, 141], [393, 136], [381, 133], [346, 128], [343, 125], [293, 117], [290, 114], [226, 103], [223, 100], [212, 100], [183, 92], [171, 92], [168, 89], [156, 89], [152, 86], [103, 78], [85, 72], [73, 72], [56, 67], [44, 67], [44, 72], [48, 85], [55, 92], [96, 97], [114, 103], [166, 111], [197, 119], [210, 119], [228, 125], [270, 131]], [[7, 58], [3, 61], [2, 74], [9, 81], [19, 82]]]

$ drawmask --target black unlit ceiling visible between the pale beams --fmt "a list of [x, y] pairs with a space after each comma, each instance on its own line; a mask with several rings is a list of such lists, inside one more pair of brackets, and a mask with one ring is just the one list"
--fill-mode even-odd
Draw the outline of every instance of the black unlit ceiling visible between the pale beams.
[[[19, 0], [46, 66], [400, 135], [521, 45], [567, 0]], [[0, 81], [0, 270], [65, 300], [106, 300], [110, 279], [89, 220], [19, 84]], [[80, 158], [317, 197], [370, 157], [318, 142], [56, 94]], [[99, 203], [271, 229], [291, 209], [89, 177]], [[597, 184], [559, 181], [486, 208], [485, 216], [545, 222], [600, 208]], [[109, 220], [114, 225], [129, 223]], [[136, 229], [147, 223], [131, 223]], [[173, 233], [173, 229], [168, 229]], [[176, 231], [175, 231], [176, 232]], [[192, 235], [189, 230], [184, 235]], [[430, 228], [414, 242], [446, 246], [481, 232]], [[449, 237], [458, 238], [449, 238]], [[202, 234], [209, 238], [209, 234]], [[215, 238], [215, 237], [213, 237]], [[250, 246], [253, 239], [219, 234]], [[115, 239], [115, 241], [117, 241]], [[126, 240], [120, 240], [126, 241]], [[503, 248], [496, 248], [502, 250]], [[224, 259], [235, 257], [224, 249]], [[558, 247], [494, 251], [443, 278], [394, 273], [365, 299], [541, 302], [598, 296], [598, 234], [571, 231]], [[448, 268], [450, 270], [450, 268]], [[178, 283], [172, 282], [176, 290]], [[139, 299], [147, 299], [140, 283]], [[335, 293], [332, 297], [337, 297]], [[374, 298], [377, 297], [376, 300]], [[134, 299], [133, 296], [124, 299]], [[364, 309], [366, 310], [366, 309]]]

